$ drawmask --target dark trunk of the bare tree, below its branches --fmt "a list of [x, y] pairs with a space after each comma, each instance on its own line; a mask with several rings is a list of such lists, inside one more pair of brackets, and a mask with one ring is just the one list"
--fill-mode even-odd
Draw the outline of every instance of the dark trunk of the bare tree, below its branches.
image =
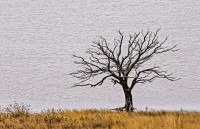
[[133, 99], [132, 99], [132, 94], [130, 89], [124, 89], [124, 94], [125, 94], [125, 110], [126, 111], [133, 111]]

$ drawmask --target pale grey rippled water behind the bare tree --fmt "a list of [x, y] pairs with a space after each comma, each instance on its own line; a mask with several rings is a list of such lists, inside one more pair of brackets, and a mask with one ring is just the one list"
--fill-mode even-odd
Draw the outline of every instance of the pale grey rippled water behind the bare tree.
[[[115, 108], [124, 105], [120, 86], [71, 88], [77, 80], [72, 54], [83, 55], [96, 36], [108, 41], [161, 28], [178, 52], [156, 63], [182, 78], [156, 80], [133, 90], [137, 109], [200, 109], [199, 0], [1, 0], [0, 105], [31, 105], [34, 111]], [[155, 63], [155, 62], [153, 62]]]

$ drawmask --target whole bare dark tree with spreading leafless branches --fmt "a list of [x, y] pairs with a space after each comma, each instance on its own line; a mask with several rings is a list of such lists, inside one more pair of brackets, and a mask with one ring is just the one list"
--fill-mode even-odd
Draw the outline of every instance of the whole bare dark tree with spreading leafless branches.
[[[74, 87], [100, 86], [109, 79], [114, 85], [119, 84], [123, 88], [125, 106], [119, 109], [134, 110], [131, 91], [136, 84], [152, 82], [156, 78], [176, 80], [172, 77], [172, 73], [161, 70], [160, 66], [143, 67], [144, 63], [155, 55], [176, 51], [176, 45], [164, 46], [167, 38], [164, 41], [158, 40], [158, 32], [159, 30], [155, 33], [149, 30], [145, 33], [141, 31], [129, 35], [129, 39], [124, 43], [124, 34], [118, 31], [119, 39], [115, 39], [112, 44], [100, 36], [86, 51], [89, 55], [88, 58], [73, 55], [78, 59], [74, 63], [80, 66], [78, 70], [70, 73], [80, 79], [78, 83], [74, 84]], [[91, 79], [94, 77], [100, 80], [92, 82]]]

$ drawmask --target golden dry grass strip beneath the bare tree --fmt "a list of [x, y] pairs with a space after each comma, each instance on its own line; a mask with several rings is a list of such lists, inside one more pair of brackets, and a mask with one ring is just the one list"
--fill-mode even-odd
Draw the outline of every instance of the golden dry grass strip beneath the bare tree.
[[0, 112], [0, 129], [200, 129], [200, 112], [49, 110], [20, 105]]

